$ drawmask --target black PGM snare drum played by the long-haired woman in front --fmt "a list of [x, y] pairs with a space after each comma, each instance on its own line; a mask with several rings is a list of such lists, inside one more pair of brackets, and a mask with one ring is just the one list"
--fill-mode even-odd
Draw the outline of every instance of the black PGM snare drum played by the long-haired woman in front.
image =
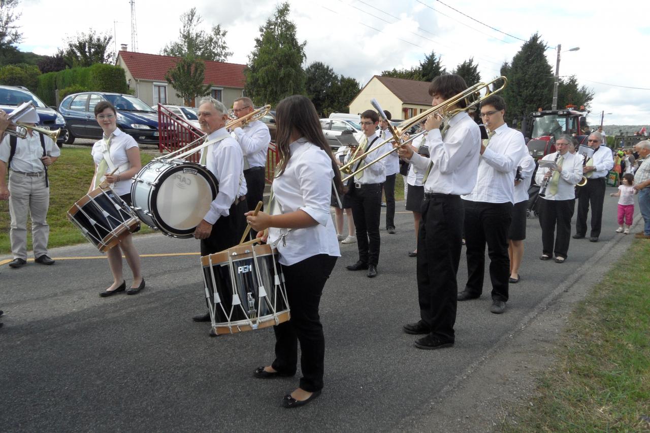
[[201, 257], [214, 334], [235, 334], [288, 321], [289, 302], [276, 251], [235, 246]]

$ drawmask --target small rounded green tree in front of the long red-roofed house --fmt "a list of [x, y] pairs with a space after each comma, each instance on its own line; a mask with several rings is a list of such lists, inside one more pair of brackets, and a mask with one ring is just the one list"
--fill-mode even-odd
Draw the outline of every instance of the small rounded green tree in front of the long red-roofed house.
[[174, 68], [165, 74], [167, 83], [176, 89], [176, 96], [183, 98], [185, 105], [194, 106], [194, 99], [210, 93], [211, 84], [204, 85], [205, 63], [192, 57], [180, 59]]

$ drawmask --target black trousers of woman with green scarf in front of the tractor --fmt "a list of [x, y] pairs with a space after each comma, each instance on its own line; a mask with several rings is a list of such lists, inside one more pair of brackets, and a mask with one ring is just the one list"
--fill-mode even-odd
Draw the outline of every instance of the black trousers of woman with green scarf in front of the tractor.
[[[567, 258], [571, 240], [571, 218], [575, 198], [571, 200], [539, 200], [542, 254]], [[557, 231], [556, 231], [557, 228]], [[555, 239], [553, 239], [555, 238]]]

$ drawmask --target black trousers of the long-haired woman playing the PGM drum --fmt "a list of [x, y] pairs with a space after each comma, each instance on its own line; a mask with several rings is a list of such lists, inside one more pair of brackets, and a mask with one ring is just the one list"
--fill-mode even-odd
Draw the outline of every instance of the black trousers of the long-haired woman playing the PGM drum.
[[273, 327], [276, 359], [272, 367], [281, 373], [296, 373], [300, 342], [300, 387], [309, 392], [319, 391], [323, 387], [325, 337], [318, 304], [336, 259], [327, 254], [318, 254], [282, 267], [291, 320]]

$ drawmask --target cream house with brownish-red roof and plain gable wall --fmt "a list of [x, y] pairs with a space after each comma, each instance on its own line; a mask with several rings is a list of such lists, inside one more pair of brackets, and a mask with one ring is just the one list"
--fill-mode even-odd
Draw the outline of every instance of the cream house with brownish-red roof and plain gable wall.
[[427, 81], [374, 75], [350, 102], [350, 112], [361, 114], [372, 110], [370, 100], [377, 99], [382, 109], [390, 111], [395, 119], [406, 120], [431, 108]]

